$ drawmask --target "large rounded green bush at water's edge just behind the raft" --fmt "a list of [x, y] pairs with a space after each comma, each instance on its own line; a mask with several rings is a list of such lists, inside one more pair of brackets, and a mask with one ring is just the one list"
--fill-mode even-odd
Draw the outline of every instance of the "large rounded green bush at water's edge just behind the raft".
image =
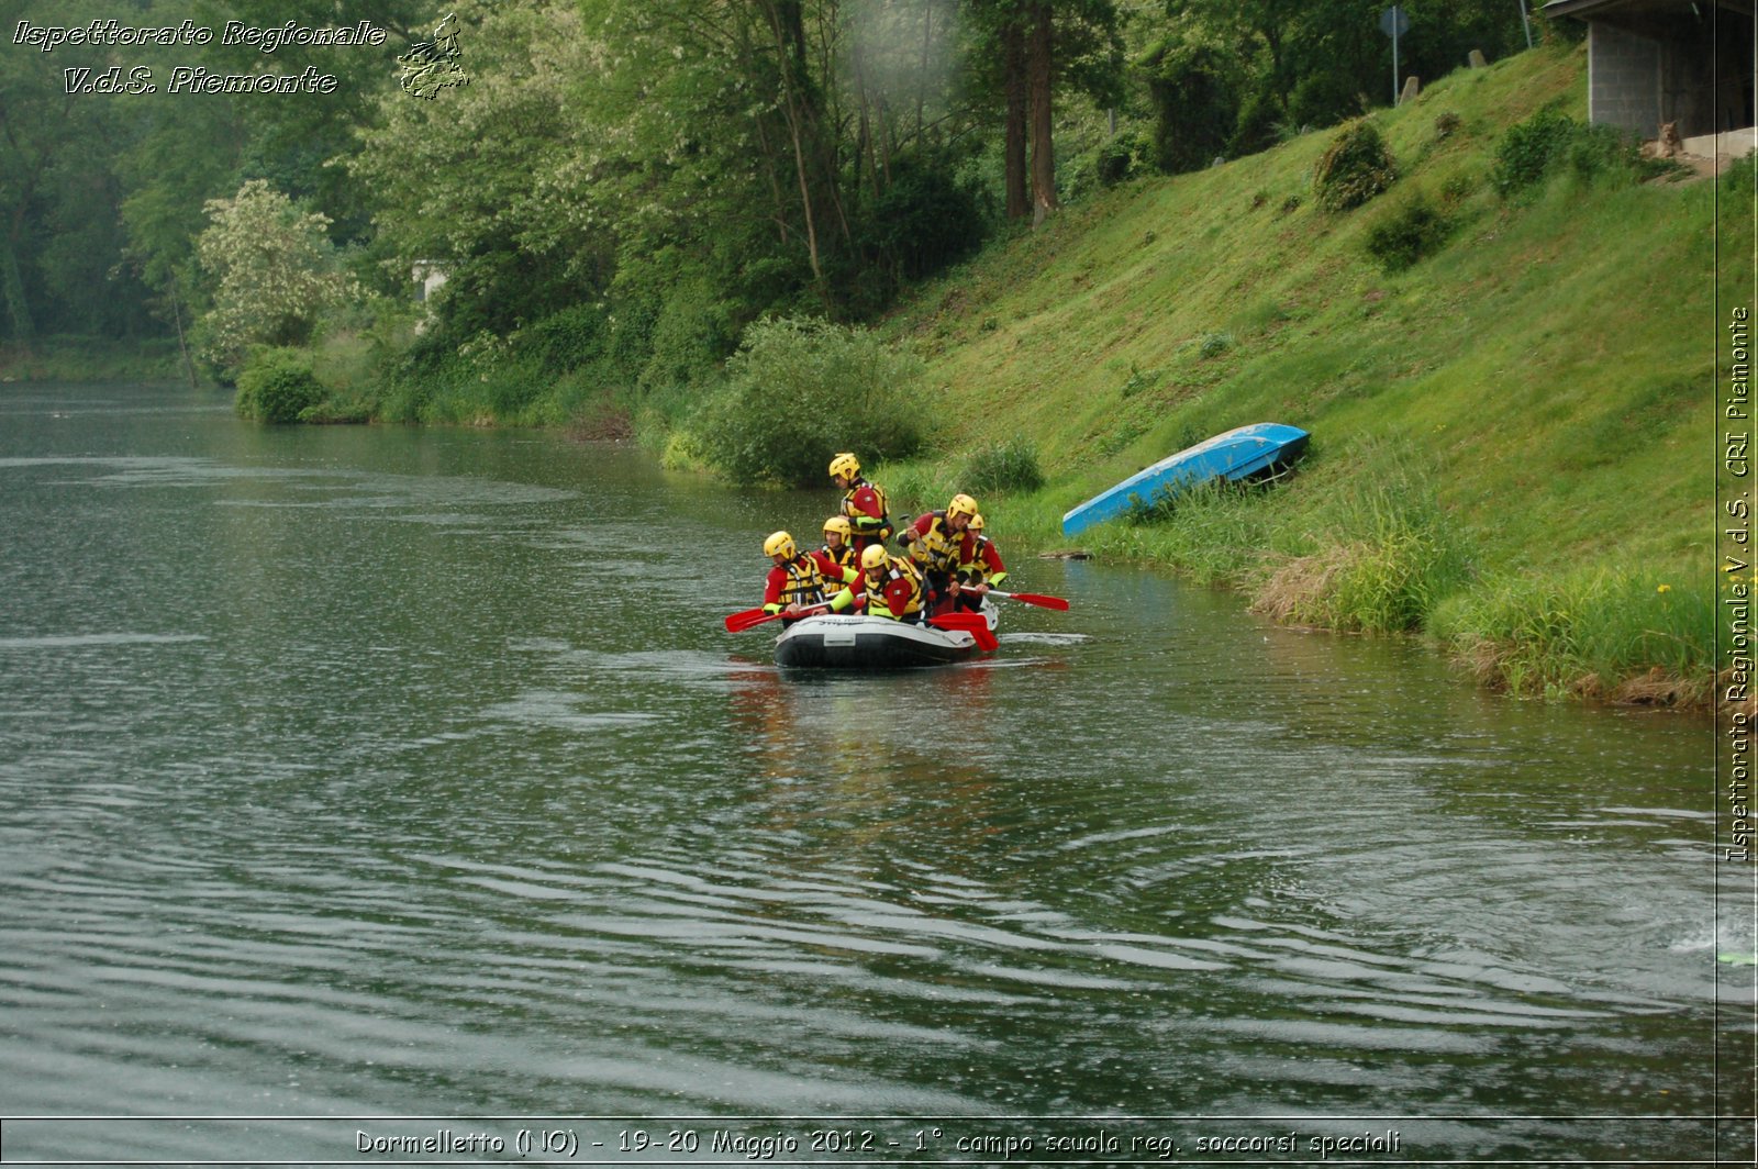
[[689, 422], [691, 445], [740, 483], [812, 487], [839, 450], [863, 462], [921, 445], [921, 360], [865, 329], [761, 320], [726, 362], [726, 387]]

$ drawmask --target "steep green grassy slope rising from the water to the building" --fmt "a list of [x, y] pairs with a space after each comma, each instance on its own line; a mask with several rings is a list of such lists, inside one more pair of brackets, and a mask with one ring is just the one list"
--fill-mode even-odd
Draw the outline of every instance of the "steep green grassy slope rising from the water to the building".
[[[1025, 438], [1048, 476], [986, 499], [992, 529], [1058, 547], [1060, 513], [1097, 490], [1287, 422], [1313, 434], [1287, 485], [1081, 545], [1243, 587], [1283, 621], [1426, 631], [1512, 689], [1705, 698], [1714, 276], [1718, 246], [1749, 272], [1751, 199], [1566, 163], [1505, 199], [1498, 146], [1547, 107], [1586, 121], [1582, 49], [1377, 114], [1399, 179], [1354, 211], [1317, 206], [1338, 134], [1318, 132], [1118, 188], [926, 288], [891, 329], [928, 357], [946, 448]], [[1746, 211], [1719, 229], [1718, 193]], [[1387, 271], [1369, 236], [1415, 202], [1445, 243]], [[890, 471], [911, 503], [972, 475], [953, 457]]]

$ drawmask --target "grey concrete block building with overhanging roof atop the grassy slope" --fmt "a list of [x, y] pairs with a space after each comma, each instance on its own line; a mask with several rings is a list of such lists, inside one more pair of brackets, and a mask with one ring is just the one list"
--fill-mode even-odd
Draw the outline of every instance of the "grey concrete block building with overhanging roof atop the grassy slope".
[[1674, 123], [1686, 151], [1753, 148], [1754, 0], [1551, 0], [1587, 23], [1587, 120], [1644, 139]]

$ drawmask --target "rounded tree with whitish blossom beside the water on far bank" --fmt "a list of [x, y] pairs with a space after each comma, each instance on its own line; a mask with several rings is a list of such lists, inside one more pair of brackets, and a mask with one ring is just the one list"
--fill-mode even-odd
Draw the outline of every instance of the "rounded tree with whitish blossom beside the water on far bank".
[[336, 262], [329, 216], [301, 213], [264, 179], [206, 206], [195, 257], [213, 308], [202, 316], [202, 355], [237, 371], [251, 345], [304, 345], [325, 309], [357, 294]]

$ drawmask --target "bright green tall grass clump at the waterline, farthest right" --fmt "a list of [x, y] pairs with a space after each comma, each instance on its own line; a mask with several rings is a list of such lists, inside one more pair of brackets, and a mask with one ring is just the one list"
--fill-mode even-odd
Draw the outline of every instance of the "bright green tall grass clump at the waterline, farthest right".
[[1433, 636], [1486, 686], [1663, 705], [1712, 698], [1714, 582], [1704, 571], [1503, 573], [1433, 615]]

